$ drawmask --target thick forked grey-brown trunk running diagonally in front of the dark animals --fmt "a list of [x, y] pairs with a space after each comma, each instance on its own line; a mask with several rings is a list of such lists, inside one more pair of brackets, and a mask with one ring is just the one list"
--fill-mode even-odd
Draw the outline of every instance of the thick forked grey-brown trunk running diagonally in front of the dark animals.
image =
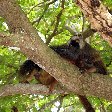
[[19, 47], [69, 91], [112, 99], [112, 79], [102, 75], [81, 75], [76, 66], [63, 60], [42, 42], [15, 0], [0, 0], [0, 15], [5, 18], [10, 32], [26, 33], [25, 36], [1, 35], [0, 44]]

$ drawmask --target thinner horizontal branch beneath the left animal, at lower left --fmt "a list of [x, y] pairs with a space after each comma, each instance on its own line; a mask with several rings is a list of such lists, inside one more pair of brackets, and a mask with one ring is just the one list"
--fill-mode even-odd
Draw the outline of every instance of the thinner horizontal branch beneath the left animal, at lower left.
[[[62, 89], [55, 89], [52, 94], [65, 93]], [[42, 84], [16, 84], [5, 85], [0, 88], [0, 97], [16, 95], [16, 94], [37, 94], [37, 95], [49, 95], [49, 88]]]

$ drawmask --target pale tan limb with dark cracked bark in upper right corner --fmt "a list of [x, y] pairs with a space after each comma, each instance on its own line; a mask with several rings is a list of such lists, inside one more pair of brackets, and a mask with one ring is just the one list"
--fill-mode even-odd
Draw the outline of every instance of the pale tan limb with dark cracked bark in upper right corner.
[[112, 46], [112, 15], [99, 0], [75, 0], [92, 28]]

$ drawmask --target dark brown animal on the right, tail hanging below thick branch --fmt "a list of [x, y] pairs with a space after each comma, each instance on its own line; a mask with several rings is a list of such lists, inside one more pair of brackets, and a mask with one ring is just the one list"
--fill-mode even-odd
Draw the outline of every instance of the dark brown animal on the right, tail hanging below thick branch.
[[[103, 75], [108, 74], [99, 52], [92, 48], [88, 43], [85, 43], [84, 47], [81, 49], [79, 39], [72, 38], [70, 41], [70, 46], [77, 48], [77, 58], [75, 60], [75, 65], [79, 67], [82, 73], [96, 72]], [[95, 112], [86, 96], [78, 95], [78, 97], [86, 109], [86, 112]]]

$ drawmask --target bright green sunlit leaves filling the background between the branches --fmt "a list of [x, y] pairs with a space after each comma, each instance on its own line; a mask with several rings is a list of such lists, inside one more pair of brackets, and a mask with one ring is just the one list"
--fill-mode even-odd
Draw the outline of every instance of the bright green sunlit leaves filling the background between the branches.
[[[66, 0], [64, 3], [64, 9], [62, 9], [60, 0], [54, 0], [54, 2], [49, 0], [18, 0], [19, 5], [27, 14], [32, 25], [37, 29], [38, 34], [44, 42], [50, 38], [53, 34], [54, 29], [56, 32], [51, 38], [50, 45], [59, 45], [66, 43], [67, 40], [72, 36], [72, 34], [66, 30], [65, 26], [69, 26], [73, 31], [80, 33], [84, 27], [84, 30], [88, 28], [89, 23], [85, 18], [83, 25], [83, 14], [80, 9], [72, 2], [72, 0]], [[104, 4], [111, 8], [111, 0], [105, 0]], [[61, 16], [59, 16], [59, 22], [57, 16], [62, 11]], [[8, 32], [8, 26], [3, 18], [0, 18], [0, 31]], [[104, 63], [107, 68], [112, 73], [112, 49], [107, 42], [103, 41], [98, 34], [94, 34], [89, 42], [91, 45], [99, 50]], [[18, 48], [11, 47], [0, 47], [0, 84], [18, 83], [16, 78], [19, 66], [26, 60], [26, 57], [21, 54]], [[15, 95], [0, 98], [0, 111], [9, 112], [13, 106], [16, 106], [20, 112], [37, 112], [44, 104], [52, 102], [54, 99], [59, 97], [58, 95]], [[98, 99], [94, 97], [89, 97], [97, 112], [105, 108], [108, 112], [112, 111], [112, 104], [104, 99]], [[62, 103], [62, 104], [61, 104]], [[60, 108], [61, 105], [61, 108]], [[69, 111], [83, 111], [83, 107], [80, 104], [77, 96], [71, 94], [63, 97], [57, 98], [56, 101], [50, 103], [44, 110], [44, 112], [57, 112], [60, 108], [60, 112]]]

